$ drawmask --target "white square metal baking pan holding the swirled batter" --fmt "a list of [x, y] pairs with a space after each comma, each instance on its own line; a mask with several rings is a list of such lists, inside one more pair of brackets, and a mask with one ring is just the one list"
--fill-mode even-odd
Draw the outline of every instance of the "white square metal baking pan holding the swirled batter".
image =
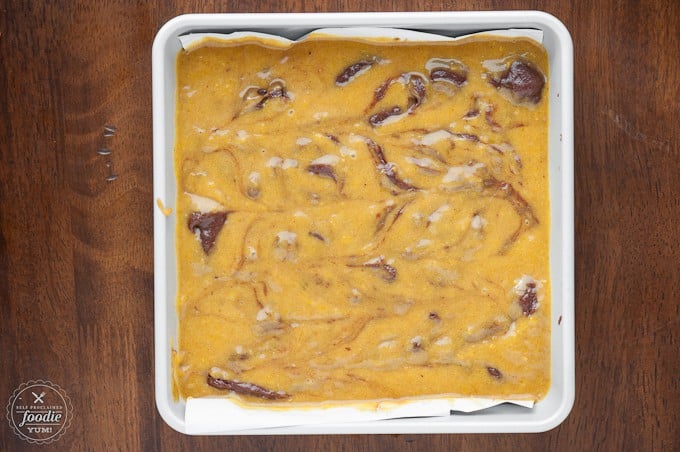
[[[162, 418], [175, 430], [192, 433], [186, 403], [172, 394], [171, 350], [177, 344], [175, 216], [175, 64], [179, 37], [190, 33], [261, 32], [297, 39], [319, 28], [388, 27], [459, 36], [480, 31], [535, 29], [543, 34], [550, 63], [549, 177], [552, 284], [551, 388], [533, 408], [501, 404], [443, 417], [324, 423], [213, 434], [505, 433], [541, 432], [559, 425], [574, 402], [574, 208], [573, 54], [569, 32], [555, 17], [538, 11], [191, 14], [167, 22], [153, 44], [154, 304], [155, 389]], [[225, 420], [228, 425], [228, 419]]]

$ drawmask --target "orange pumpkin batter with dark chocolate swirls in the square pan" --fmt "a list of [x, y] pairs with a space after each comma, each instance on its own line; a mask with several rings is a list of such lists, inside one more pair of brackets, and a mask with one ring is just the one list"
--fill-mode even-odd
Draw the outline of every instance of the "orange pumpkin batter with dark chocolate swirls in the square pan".
[[179, 395], [543, 397], [547, 74], [497, 37], [181, 52]]

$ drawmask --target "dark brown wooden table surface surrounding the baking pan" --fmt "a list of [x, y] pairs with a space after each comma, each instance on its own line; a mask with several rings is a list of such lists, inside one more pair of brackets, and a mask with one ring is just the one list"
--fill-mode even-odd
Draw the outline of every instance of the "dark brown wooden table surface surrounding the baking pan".
[[[188, 12], [452, 9], [542, 9], [574, 40], [571, 415], [542, 434], [176, 433], [154, 405], [156, 31]], [[680, 450], [679, 25], [677, 0], [1, 2], [0, 403], [46, 379], [75, 417], [49, 446], [3, 419], [0, 450]]]

